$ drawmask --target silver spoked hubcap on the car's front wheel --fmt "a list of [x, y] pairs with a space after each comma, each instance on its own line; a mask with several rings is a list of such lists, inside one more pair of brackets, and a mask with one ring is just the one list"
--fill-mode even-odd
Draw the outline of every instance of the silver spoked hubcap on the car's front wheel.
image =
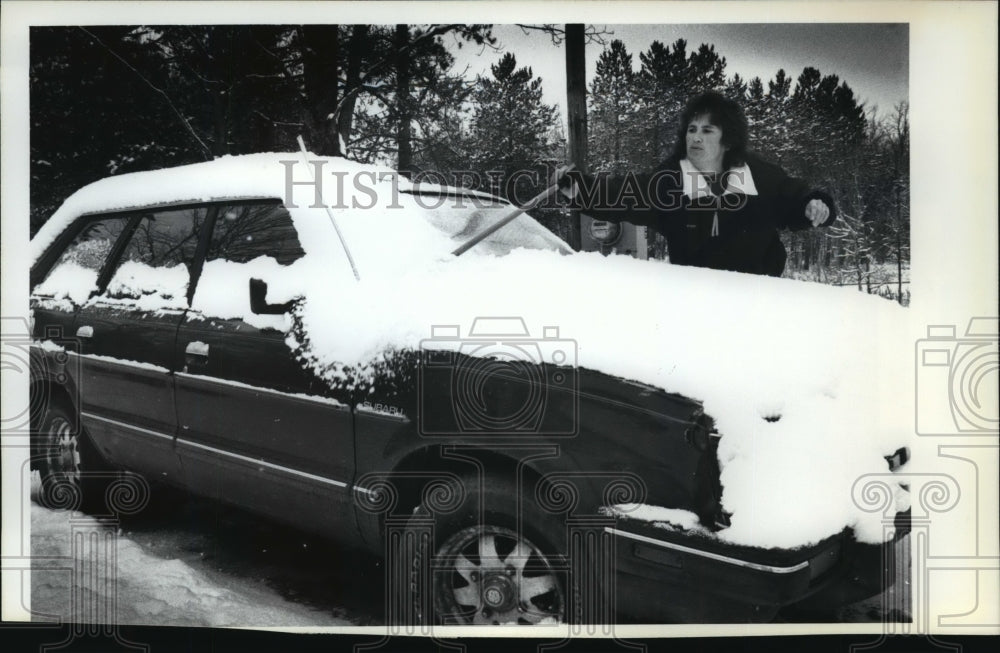
[[444, 617], [481, 625], [561, 622], [565, 600], [556, 572], [514, 531], [467, 528], [441, 547], [434, 574]]

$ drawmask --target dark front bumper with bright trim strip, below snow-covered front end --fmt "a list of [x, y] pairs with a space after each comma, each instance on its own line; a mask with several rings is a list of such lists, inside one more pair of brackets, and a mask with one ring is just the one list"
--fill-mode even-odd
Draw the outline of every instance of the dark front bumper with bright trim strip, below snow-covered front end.
[[[895, 538], [908, 530], [907, 514]], [[635, 521], [605, 532], [615, 540], [617, 611], [629, 621], [769, 621], [783, 606], [833, 610], [895, 580], [894, 542], [861, 544], [850, 531], [795, 550], [725, 546]]]

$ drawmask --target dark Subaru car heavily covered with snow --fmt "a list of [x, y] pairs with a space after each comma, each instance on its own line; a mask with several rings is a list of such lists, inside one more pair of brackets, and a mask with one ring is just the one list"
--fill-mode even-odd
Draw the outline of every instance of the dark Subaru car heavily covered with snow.
[[393, 621], [882, 591], [907, 495], [855, 485], [905, 462], [873, 392], [901, 309], [573, 253], [526, 214], [453, 254], [513, 208], [297, 154], [77, 191], [31, 242], [43, 496], [107, 511], [128, 470], [366, 547]]

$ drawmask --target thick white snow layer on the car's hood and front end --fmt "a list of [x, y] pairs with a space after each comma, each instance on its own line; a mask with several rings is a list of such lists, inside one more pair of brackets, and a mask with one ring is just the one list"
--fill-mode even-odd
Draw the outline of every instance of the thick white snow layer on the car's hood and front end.
[[722, 503], [732, 513], [723, 539], [795, 546], [845, 525], [862, 540], [883, 538], [882, 515], [852, 501], [854, 482], [885, 473], [883, 456], [907, 437], [881, 417], [881, 377], [898, 374], [892, 361], [904, 360], [892, 343], [905, 313], [883, 299], [628, 257], [519, 250], [431, 261], [391, 280], [318, 283], [301, 311], [320, 373], [364, 367], [386, 349], [433, 346], [433, 325], [458, 325], [465, 336], [477, 317], [517, 316], [539, 338], [558, 327], [559, 338], [575, 341], [580, 367], [704, 402], [722, 434]]

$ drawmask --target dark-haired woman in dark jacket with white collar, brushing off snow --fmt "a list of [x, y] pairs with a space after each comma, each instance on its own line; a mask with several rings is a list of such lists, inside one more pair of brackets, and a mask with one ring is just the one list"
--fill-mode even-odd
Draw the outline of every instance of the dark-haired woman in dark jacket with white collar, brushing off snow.
[[[709, 92], [680, 120], [677, 149], [652, 175], [570, 177], [574, 208], [598, 220], [645, 225], [667, 239], [670, 262], [781, 276], [779, 229], [827, 226], [833, 199], [776, 165], [749, 154], [740, 106]], [[566, 179], [564, 177], [564, 179]]]

